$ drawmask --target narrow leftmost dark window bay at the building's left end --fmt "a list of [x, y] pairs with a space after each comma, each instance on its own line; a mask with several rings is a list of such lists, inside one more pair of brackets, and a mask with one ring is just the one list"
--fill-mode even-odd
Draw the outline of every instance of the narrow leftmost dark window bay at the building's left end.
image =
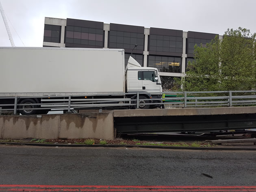
[[43, 41], [61, 43], [61, 26], [44, 25]]

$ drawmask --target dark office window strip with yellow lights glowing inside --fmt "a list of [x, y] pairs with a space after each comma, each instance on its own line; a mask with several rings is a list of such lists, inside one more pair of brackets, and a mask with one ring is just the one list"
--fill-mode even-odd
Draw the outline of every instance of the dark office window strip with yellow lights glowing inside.
[[148, 67], [157, 68], [160, 72], [181, 72], [181, 57], [149, 56]]

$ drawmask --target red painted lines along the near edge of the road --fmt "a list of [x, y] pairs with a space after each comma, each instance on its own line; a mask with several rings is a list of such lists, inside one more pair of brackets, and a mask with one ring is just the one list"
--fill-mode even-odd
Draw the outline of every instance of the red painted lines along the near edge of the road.
[[56, 186], [0, 185], [0, 191], [30, 192], [256, 192], [256, 186]]

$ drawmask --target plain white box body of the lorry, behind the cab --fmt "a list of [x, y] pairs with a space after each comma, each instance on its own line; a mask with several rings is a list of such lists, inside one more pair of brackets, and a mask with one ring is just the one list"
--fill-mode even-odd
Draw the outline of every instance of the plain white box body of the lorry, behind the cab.
[[124, 50], [0, 47], [0, 93], [124, 93]]

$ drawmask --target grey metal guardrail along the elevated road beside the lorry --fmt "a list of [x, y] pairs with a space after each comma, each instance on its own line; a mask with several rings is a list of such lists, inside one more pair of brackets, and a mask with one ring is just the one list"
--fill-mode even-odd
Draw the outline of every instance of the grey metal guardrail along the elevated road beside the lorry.
[[[149, 108], [151, 106], [165, 107], [183, 107], [183, 108], [199, 108], [199, 107], [232, 107], [232, 106], [256, 106], [256, 91], [184, 91], [184, 92], [159, 92], [149, 93], [152, 95], [162, 95], [163, 98], [150, 99], [141, 97], [145, 96], [145, 92], [134, 93], [116, 93], [117, 98], [107, 98], [109, 94], [89, 94], [75, 95], [59, 94], [47, 96], [19, 96], [20, 93], [11, 93], [14, 97], [0, 97], [0, 115], [6, 112], [17, 114], [20, 108], [26, 110], [71, 110], [91, 109], [91, 108]], [[36, 95], [36, 93], [35, 93]], [[131, 95], [137, 95], [134, 99], [129, 98]], [[86, 98], [91, 97], [91, 98]], [[100, 98], [96, 98], [100, 97]], [[19, 103], [20, 99], [40, 98], [41, 103]], [[4, 103], [3, 99], [8, 103]], [[147, 106], [147, 107], [146, 107]]]

